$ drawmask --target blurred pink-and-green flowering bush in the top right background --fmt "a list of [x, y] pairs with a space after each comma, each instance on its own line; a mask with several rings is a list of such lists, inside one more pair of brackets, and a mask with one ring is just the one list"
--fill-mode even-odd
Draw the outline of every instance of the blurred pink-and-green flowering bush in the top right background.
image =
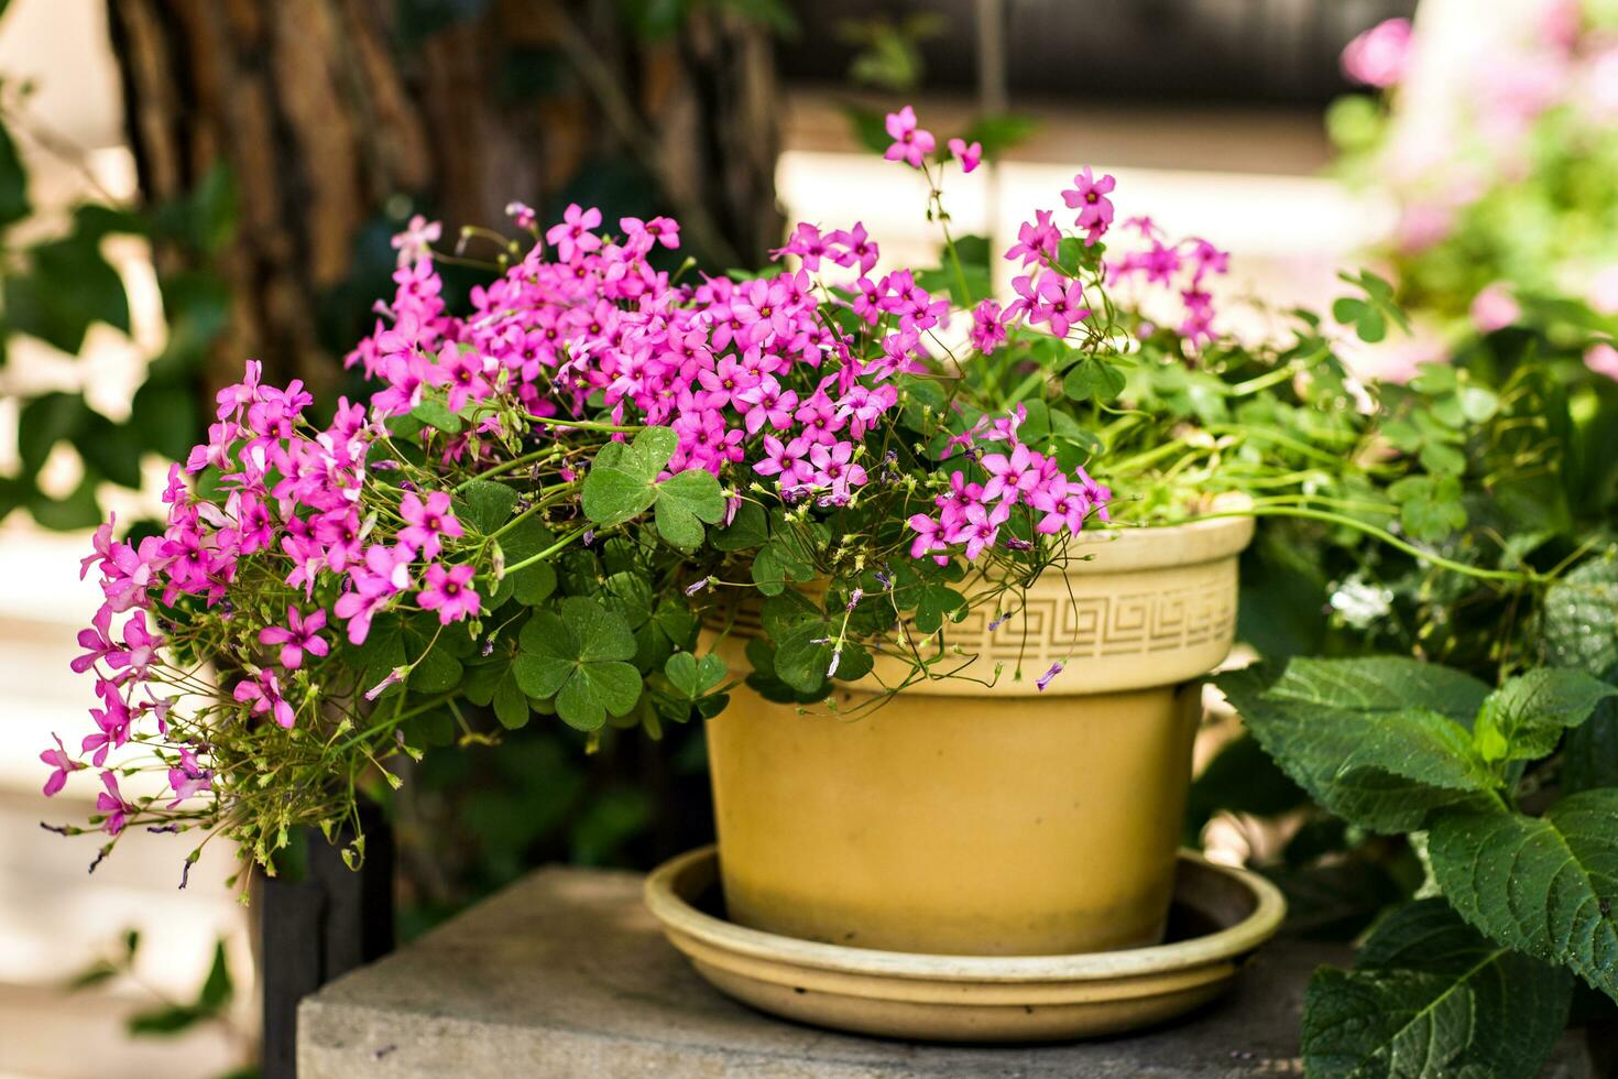
[[1367, 32], [1380, 34], [1387, 63], [1367, 66], [1353, 47], [1345, 53], [1348, 73], [1377, 92], [1328, 113], [1338, 170], [1398, 204], [1382, 254], [1404, 306], [1443, 320], [1471, 314], [1493, 328], [1534, 298], [1568, 298], [1592, 304], [1612, 332], [1618, 10], [1571, 0], [1516, 15], [1477, 34], [1443, 79], [1419, 78], [1443, 63], [1429, 53], [1442, 24]]

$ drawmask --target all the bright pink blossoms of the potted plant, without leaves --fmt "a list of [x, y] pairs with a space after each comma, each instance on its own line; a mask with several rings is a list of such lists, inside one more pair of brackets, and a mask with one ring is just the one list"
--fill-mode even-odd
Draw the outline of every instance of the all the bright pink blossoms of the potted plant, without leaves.
[[[890, 116], [888, 129], [896, 160], [919, 167], [935, 146], [909, 108]], [[955, 139], [951, 152], [971, 170], [981, 147]], [[1087, 244], [1112, 225], [1112, 188], [1110, 176], [1086, 170], [1065, 193]], [[513, 204], [511, 212], [537, 236], [532, 210]], [[387, 455], [372, 463], [385, 424], [427, 416], [424, 406], [447, 408], [461, 421], [458, 434], [422, 440], [437, 455], [429, 471], [476, 474], [510, 463], [519, 443], [544, 451], [571, 438], [573, 427], [605, 419], [673, 430], [665, 476], [707, 469], [736, 489], [772, 482], [788, 505], [849, 506], [872, 484], [896, 482], [893, 455], [869, 459], [867, 437], [898, 408], [900, 375], [927, 370], [929, 341], [947, 327], [951, 304], [909, 270], [877, 275], [879, 248], [862, 225], [827, 233], [799, 225], [775, 252], [796, 265], [770, 275], [678, 281], [652, 257], [680, 246], [675, 222], [626, 217], [608, 233], [599, 210], [570, 205], [526, 257], [472, 290], [464, 315], [443, 301], [429, 249], [440, 231], [413, 220], [398, 238], [393, 299], [379, 304], [374, 332], [346, 358], [379, 387], [369, 404], [343, 400], [317, 430], [304, 419], [312, 398], [303, 385], [262, 385], [259, 364], [249, 362], [244, 380], [220, 391], [207, 440], [170, 471], [163, 532], [121, 542], [110, 521], [97, 532], [84, 571], [99, 569], [105, 603], [79, 637], [86, 654], [74, 660], [74, 670], [94, 671], [102, 700], [91, 713], [95, 731], [79, 749], [94, 767], [150, 717], [155, 738], [141, 738], [159, 747], [176, 799], [212, 788], [210, 746], [183, 731], [170, 736], [172, 700], [157, 691], [165, 645], [159, 626], [184, 633], [183, 621], [163, 621], [176, 603], [248, 618], [230, 608], [246, 574], [285, 587], [291, 599], [277, 602], [273, 623], [254, 623], [244, 634], [249, 654], [230, 657], [228, 684], [207, 707], [283, 728], [314, 707], [311, 668], [333, 655], [335, 633], [361, 645], [380, 613], [409, 605], [442, 624], [482, 611], [477, 568], [461, 553], [469, 550], [468, 531], [448, 490], [416, 489]], [[1082, 285], [1050, 265], [1058, 244], [1048, 214], [1024, 226], [1008, 257], [1037, 262], [1040, 277], [1021, 278], [1018, 301], [1003, 312], [993, 301], [971, 312], [981, 353], [1000, 348], [1021, 319], [1066, 336], [1091, 317]], [[833, 267], [843, 273], [825, 280]], [[1023, 445], [1021, 414], [985, 422], [956, 435], [951, 450], [964, 446], [989, 479], [969, 482], [955, 472], [937, 500], [938, 514], [911, 518], [917, 558], [979, 556], [1019, 506], [1036, 514], [1045, 535], [1078, 531], [1092, 513], [1105, 519], [1107, 489], [1082, 469], [1063, 474]], [[1003, 446], [979, 448], [979, 438]], [[563, 480], [578, 474], [573, 469]], [[204, 472], [205, 497], [189, 482]], [[739, 498], [730, 505], [735, 510]], [[557, 513], [581, 510], [568, 503]], [[1014, 537], [1003, 544], [1027, 547]], [[252, 587], [262, 595], [260, 584]], [[120, 615], [128, 616], [115, 628]], [[265, 611], [251, 618], [265, 620]], [[53, 768], [47, 793], [87, 767], [60, 739], [42, 759]], [[102, 827], [116, 833], [134, 807], [110, 770], [102, 783]]]

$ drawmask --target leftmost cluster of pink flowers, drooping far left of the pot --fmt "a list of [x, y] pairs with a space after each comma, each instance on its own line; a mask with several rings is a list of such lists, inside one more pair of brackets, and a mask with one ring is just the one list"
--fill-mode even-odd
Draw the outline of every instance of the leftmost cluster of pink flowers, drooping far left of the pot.
[[[421, 264], [416, 264], [421, 265]], [[398, 272], [401, 288], [417, 288], [414, 267]], [[422, 290], [426, 291], [426, 290]], [[435, 290], [434, 290], [435, 291]], [[84, 736], [79, 752], [94, 767], [107, 762], [110, 751], [129, 743], [144, 718], [155, 721], [157, 744], [180, 764], [168, 770], [178, 799], [207, 791], [212, 772], [197, 764], [207, 746], [184, 743], [163, 746], [170, 734], [172, 700], [159, 696], [159, 650], [163, 636], [152, 628], [157, 608], [196, 597], [209, 607], [228, 605], [231, 586], [246, 566], [272, 566], [282, 581], [303, 592], [306, 605], [286, 608], [286, 621], [259, 631], [257, 642], [280, 662], [249, 663], [228, 691], [228, 699], [248, 715], [270, 717], [293, 726], [298, 709], [288, 699], [286, 679], [306, 657], [330, 652], [325, 629], [330, 615], [346, 621], [348, 639], [364, 642], [371, 620], [383, 607], [406, 599], [437, 610], [443, 623], [468, 618], [479, 610], [469, 587], [472, 566], [445, 568], [435, 560], [443, 539], [463, 535], [450, 513], [450, 497], [434, 492], [426, 500], [404, 493], [400, 514], [404, 526], [385, 535], [361, 516], [361, 487], [367, 482], [367, 455], [379, 434], [375, 421], [359, 404], [338, 403], [332, 424], [309, 434], [303, 422], [312, 403], [301, 383], [285, 390], [260, 383], [260, 367], [248, 364], [246, 379], [218, 393], [217, 422], [207, 442], [196, 446], [184, 466], [170, 469], [163, 501], [167, 527], [160, 535], [139, 542], [113, 539], [107, 521], [84, 560], [83, 574], [99, 569], [105, 602], [91, 626], [79, 633], [84, 654], [73, 670], [94, 671], [102, 707], [91, 710], [95, 731]], [[395, 393], [398, 387], [390, 387]], [[379, 395], [380, 396], [380, 395]], [[217, 492], [207, 498], [188, 490], [188, 477], [214, 469]], [[414, 569], [426, 560], [426, 584], [416, 584]], [[314, 602], [316, 595], [322, 602]], [[328, 611], [324, 602], [330, 602]], [[228, 607], [227, 607], [228, 610]], [[113, 618], [128, 613], [121, 628]], [[42, 754], [55, 772], [45, 793], [61, 789], [66, 773], [84, 767], [66, 754], [61, 741]], [[107, 793], [118, 799], [116, 778], [105, 772]], [[120, 802], [123, 806], [123, 802]], [[104, 807], [102, 827], [116, 833], [129, 809]]]

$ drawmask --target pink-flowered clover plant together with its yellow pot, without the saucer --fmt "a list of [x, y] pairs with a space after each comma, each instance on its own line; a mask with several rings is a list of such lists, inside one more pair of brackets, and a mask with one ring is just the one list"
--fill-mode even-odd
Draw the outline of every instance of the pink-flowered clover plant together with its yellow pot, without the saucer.
[[[451, 311], [414, 222], [348, 358], [367, 403], [316, 422], [249, 364], [172, 468], [167, 527], [97, 532], [74, 666], [102, 707], [42, 755], [47, 793], [91, 770], [100, 794], [63, 831], [107, 833], [102, 856], [134, 825], [191, 833], [188, 867], [225, 836], [272, 870], [316, 825], [353, 861], [356, 796], [438, 731], [696, 715], [738, 920], [979, 953], [1154, 940], [1183, 686], [1230, 644], [1251, 518], [1416, 550], [1377, 521], [1424, 466], [1374, 451], [1319, 320], [1217, 336], [1225, 256], [1115, 225], [1110, 176], [1021, 228], [1002, 309], [938, 186], [977, 147], [934, 154], [909, 108], [888, 129], [940, 267], [875, 275], [862, 226], [799, 225], [770, 272], [709, 277], [671, 264], [667, 218], [607, 231], [574, 205], [540, 235], [513, 205], [534, 243]], [[1385, 285], [1349, 280], [1338, 317], [1380, 333]]]

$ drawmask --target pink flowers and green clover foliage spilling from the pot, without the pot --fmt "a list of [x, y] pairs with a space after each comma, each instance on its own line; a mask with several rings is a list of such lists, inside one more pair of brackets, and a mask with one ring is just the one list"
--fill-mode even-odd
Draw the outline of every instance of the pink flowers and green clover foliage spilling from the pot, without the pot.
[[[104, 707], [78, 754], [44, 759], [50, 789], [100, 768], [102, 854], [141, 823], [227, 835], [270, 869], [293, 827], [337, 833], [406, 759], [536, 713], [597, 746], [608, 728], [714, 715], [743, 678], [835, 707], [832, 684], [877, 673], [877, 655], [900, 660], [875, 679], [887, 692], [955, 676], [951, 628], [1014, 615], [1073, 555], [1065, 537], [1108, 511], [1298, 518], [1534, 579], [1388, 524], [1425, 484], [1417, 539], [1453, 529], [1442, 480], [1466, 468], [1440, 450], [1464, 442], [1468, 408], [1490, 411], [1474, 387], [1434, 377], [1379, 409], [1307, 312], [1273, 345], [1218, 336], [1207, 281], [1223, 252], [1146, 218], [1108, 252], [1113, 181], [1091, 170], [1061, 193], [1074, 231], [1045, 210], [1024, 223], [1002, 311], [987, 243], [950, 230], [932, 134], [909, 108], [885, 126], [888, 157], [929, 180], [938, 267], [874, 283], [862, 228], [799, 225], [780, 252], [796, 270], [683, 285], [649, 262], [678, 246], [675, 222], [605, 233], [573, 205], [544, 243], [502, 249], [461, 314], [437, 226], [413, 222], [387, 320], [349, 356], [380, 387], [369, 406], [343, 401], [317, 427], [301, 385], [262, 385], [249, 364], [173, 468], [163, 532], [125, 542], [108, 523], [89, 560], [107, 603], [76, 666]], [[1364, 299], [1345, 319], [1387, 307], [1379, 278], [1348, 280]], [[1162, 293], [1178, 328], [1147, 315]], [[966, 341], [945, 336], [951, 309]], [[752, 670], [728, 670], [717, 647], [744, 610], [762, 634]], [[141, 768], [175, 799], [126, 799], [118, 780]]]

